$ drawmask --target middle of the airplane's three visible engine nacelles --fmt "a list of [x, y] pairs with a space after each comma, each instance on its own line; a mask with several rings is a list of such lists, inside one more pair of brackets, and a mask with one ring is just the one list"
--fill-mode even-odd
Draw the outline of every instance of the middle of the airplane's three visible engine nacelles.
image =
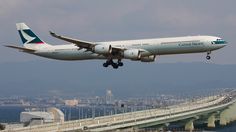
[[138, 49], [130, 49], [124, 51], [124, 58], [131, 59], [131, 60], [140, 60], [141, 53]]

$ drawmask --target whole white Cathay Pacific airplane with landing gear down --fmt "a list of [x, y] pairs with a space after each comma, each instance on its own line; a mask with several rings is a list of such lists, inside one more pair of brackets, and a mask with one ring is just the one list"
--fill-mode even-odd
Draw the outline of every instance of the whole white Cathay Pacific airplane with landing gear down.
[[[215, 36], [186, 36], [171, 38], [154, 38], [139, 40], [122, 40], [108, 42], [89, 42], [50, 34], [69, 42], [65, 45], [51, 45], [36, 36], [25, 23], [17, 23], [17, 30], [23, 47], [5, 45], [22, 52], [57, 60], [105, 59], [104, 67], [111, 65], [114, 69], [123, 66], [123, 59], [141, 62], [154, 62], [157, 56], [169, 54], [186, 54], [206, 52], [210, 60], [212, 51], [223, 48], [227, 42]], [[114, 62], [113, 60], [117, 60]]]

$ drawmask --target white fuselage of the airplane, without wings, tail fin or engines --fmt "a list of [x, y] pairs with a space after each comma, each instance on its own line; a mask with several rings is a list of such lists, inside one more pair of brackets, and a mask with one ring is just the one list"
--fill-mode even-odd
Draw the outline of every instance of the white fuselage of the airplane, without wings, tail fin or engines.
[[[97, 42], [96, 44], [111, 45], [112, 47], [119, 47], [123, 49], [142, 49], [147, 51], [143, 54], [143, 56], [150, 56], [210, 52], [220, 49], [226, 45], [226, 43], [213, 43], [218, 39], [220, 38], [214, 36], [187, 36]], [[80, 49], [75, 44], [55, 45], [47, 47], [42, 46], [38, 48], [37, 51], [33, 54], [59, 60], [107, 59], [106, 56], [87, 51], [86, 49]]]

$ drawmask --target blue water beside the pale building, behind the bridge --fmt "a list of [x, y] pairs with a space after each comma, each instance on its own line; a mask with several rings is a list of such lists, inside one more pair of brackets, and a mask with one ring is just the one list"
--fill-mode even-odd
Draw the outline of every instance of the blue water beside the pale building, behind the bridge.
[[[20, 122], [20, 113], [25, 111], [28, 107], [22, 106], [0, 106], [0, 122], [15, 123]], [[40, 108], [45, 110], [44, 108]], [[84, 106], [84, 107], [60, 107], [65, 114], [65, 120], [76, 120], [84, 118], [92, 118], [104, 115], [111, 115], [115, 113], [130, 112], [131, 108], [123, 109], [113, 106]], [[137, 108], [141, 110], [143, 108]]]

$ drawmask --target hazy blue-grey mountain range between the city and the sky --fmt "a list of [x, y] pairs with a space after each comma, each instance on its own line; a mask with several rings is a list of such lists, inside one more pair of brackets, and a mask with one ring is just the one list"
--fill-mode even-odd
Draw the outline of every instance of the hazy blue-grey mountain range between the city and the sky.
[[[128, 65], [118, 70], [101, 61], [28, 61], [0, 64], [0, 96], [103, 96], [111, 89], [118, 98], [208, 95], [236, 88], [236, 65], [160, 63]], [[127, 63], [127, 61], [125, 61]]]

